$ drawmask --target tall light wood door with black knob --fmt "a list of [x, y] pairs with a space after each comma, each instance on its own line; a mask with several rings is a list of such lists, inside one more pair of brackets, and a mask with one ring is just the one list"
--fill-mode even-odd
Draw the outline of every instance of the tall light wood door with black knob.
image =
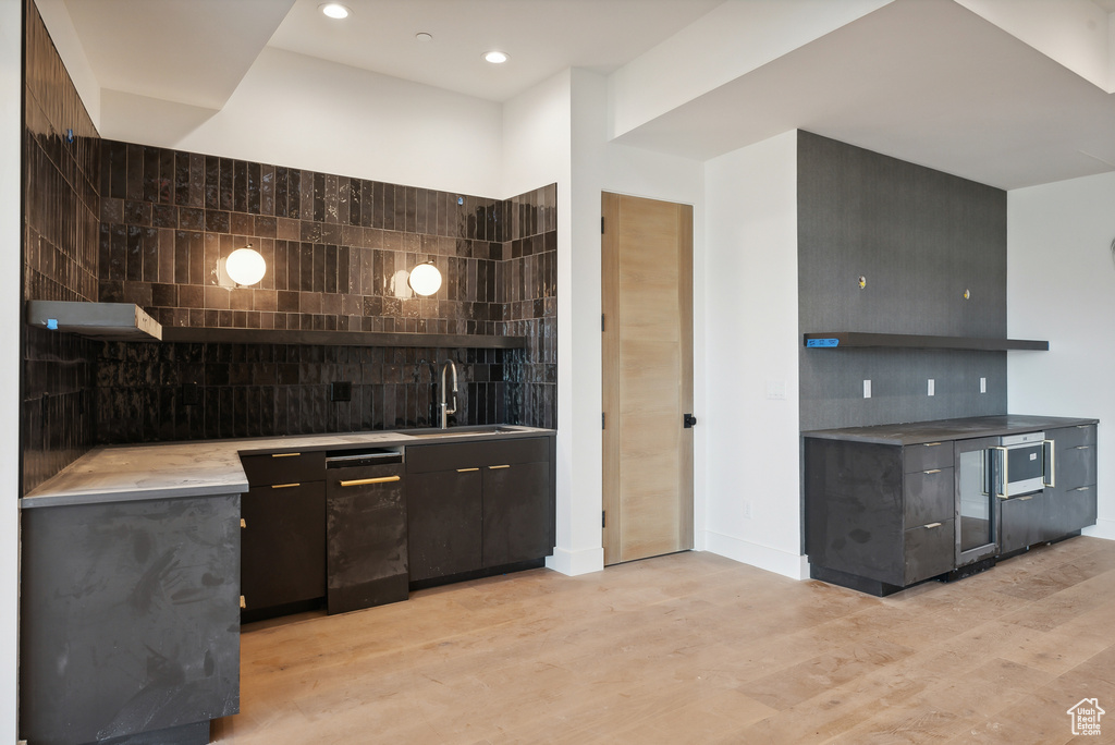
[[692, 206], [604, 193], [604, 563], [692, 548]]

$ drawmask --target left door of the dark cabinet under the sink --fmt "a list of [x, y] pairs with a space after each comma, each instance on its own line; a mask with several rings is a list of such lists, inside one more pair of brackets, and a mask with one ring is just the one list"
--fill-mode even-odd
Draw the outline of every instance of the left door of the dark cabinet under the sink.
[[407, 475], [410, 581], [479, 569], [481, 470]]

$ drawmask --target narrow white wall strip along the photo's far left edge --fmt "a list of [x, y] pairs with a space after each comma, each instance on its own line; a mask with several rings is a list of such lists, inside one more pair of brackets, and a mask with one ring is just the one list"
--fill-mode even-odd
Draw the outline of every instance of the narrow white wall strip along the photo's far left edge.
[[[0, 742], [16, 742], [19, 639], [21, 0], [0, 0]], [[7, 495], [7, 496], [4, 496]]]

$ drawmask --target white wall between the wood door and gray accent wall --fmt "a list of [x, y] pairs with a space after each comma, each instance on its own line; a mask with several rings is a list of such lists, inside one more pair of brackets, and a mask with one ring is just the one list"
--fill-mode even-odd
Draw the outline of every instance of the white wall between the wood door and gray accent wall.
[[796, 170], [796, 132], [705, 165], [704, 528], [709, 551], [803, 578]]

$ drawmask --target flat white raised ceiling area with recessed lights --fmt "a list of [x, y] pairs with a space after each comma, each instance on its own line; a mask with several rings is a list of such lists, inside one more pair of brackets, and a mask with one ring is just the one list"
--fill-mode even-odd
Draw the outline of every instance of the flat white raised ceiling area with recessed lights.
[[[270, 46], [505, 101], [569, 67], [607, 75], [723, 1], [345, 0], [336, 21], [297, 0]], [[493, 49], [510, 61], [485, 62]]]

